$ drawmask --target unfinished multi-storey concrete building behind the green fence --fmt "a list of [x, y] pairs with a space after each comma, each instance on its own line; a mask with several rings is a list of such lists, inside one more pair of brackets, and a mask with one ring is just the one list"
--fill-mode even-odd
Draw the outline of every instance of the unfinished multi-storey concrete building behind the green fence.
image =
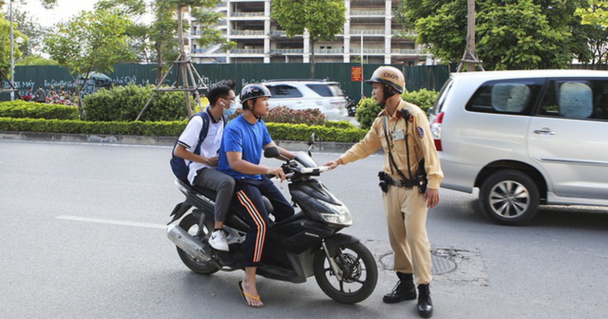
[[314, 43], [308, 34], [288, 38], [271, 18], [271, 0], [227, 0], [214, 10], [226, 17], [219, 22], [222, 33], [237, 46], [225, 51], [221, 46], [197, 47], [190, 29], [188, 41], [195, 63], [308, 63], [314, 49], [317, 63], [366, 63], [418, 65], [427, 59], [415, 34], [403, 32], [393, 12], [397, 0], [345, 0], [343, 32], [335, 41]]

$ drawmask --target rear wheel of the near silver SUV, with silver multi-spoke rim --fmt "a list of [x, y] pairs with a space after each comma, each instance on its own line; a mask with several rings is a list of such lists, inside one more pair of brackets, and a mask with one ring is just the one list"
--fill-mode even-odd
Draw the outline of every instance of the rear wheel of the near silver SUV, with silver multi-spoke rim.
[[501, 170], [483, 182], [479, 193], [489, 219], [502, 225], [522, 225], [536, 214], [538, 187], [530, 176], [516, 170]]

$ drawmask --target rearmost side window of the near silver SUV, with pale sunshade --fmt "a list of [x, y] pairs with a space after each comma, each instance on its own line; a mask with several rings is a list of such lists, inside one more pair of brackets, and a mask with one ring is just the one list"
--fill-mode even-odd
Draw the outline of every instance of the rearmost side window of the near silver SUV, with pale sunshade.
[[542, 80], [489, 81], [477, 89], [466, 110], [530, 115], [541, 88]]

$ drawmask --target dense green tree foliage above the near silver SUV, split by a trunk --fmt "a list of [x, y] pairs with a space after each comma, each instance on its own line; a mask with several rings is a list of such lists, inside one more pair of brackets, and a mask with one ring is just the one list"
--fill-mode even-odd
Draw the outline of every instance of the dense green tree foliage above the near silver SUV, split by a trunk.
[[[404, 0], [398, 15], [415, 27], [418, 43], [444, 61], [466, 47], [466, 0]], [[591, 29], [574, 13], [586, 0], [477, 1], [476, 53], [486, 69], [563, 68], [589, 61]], [[596, 31], [596, 30], [595, 30]]]

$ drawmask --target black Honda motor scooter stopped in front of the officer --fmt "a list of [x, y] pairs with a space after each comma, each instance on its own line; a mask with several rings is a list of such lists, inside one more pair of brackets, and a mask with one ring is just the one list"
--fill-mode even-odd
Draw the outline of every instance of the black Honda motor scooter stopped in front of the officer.
[[[329, 168], [318, 167], [312, 158], [313, 142], [314, 134], [308, 154], [299, 152], [294, 160], [280, 156], [277, 148], [264, 151], [265, 157], [285, 160], [282, 168], [288, 176], [289, 193], [294, 207], [300, 207], [300, 211], [269, 225], [263, 266], [258, 267], [257, 274], [292, 283], [304, 283], [314, 275], [319, 287], [333, 300], [358, 303], [376, 287], [376, 261], [359, 239], [339, 233], [353, 221], [348, 208], [314, 178]], [[181, 180], [175, 183], [186, 199], [171, 213], [173, 219], [167, 236], [176, 244], [185, 266], [204, 275], [244, 269], [243, 242], [249, 229], [244, 219], [229, 214], [224, 230], [228, 233], [230, 251], [213, 249], [208, 239], [213, 231], [215, 192]], [[265, 203], [272, 211], [270, 201], [265, 199]], [[201, 218], [203, 229], [198, 227]]]

